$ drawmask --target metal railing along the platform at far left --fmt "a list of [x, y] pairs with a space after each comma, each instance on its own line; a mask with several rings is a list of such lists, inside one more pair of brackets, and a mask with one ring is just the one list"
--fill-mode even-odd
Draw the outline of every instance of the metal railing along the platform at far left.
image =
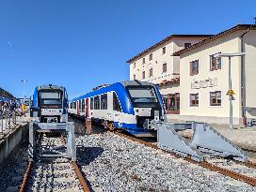
[[0, 135], [3, 135], [8, 129], [16, 126], [16, 117], [16, 111], [7, 110], [0, 112]]

